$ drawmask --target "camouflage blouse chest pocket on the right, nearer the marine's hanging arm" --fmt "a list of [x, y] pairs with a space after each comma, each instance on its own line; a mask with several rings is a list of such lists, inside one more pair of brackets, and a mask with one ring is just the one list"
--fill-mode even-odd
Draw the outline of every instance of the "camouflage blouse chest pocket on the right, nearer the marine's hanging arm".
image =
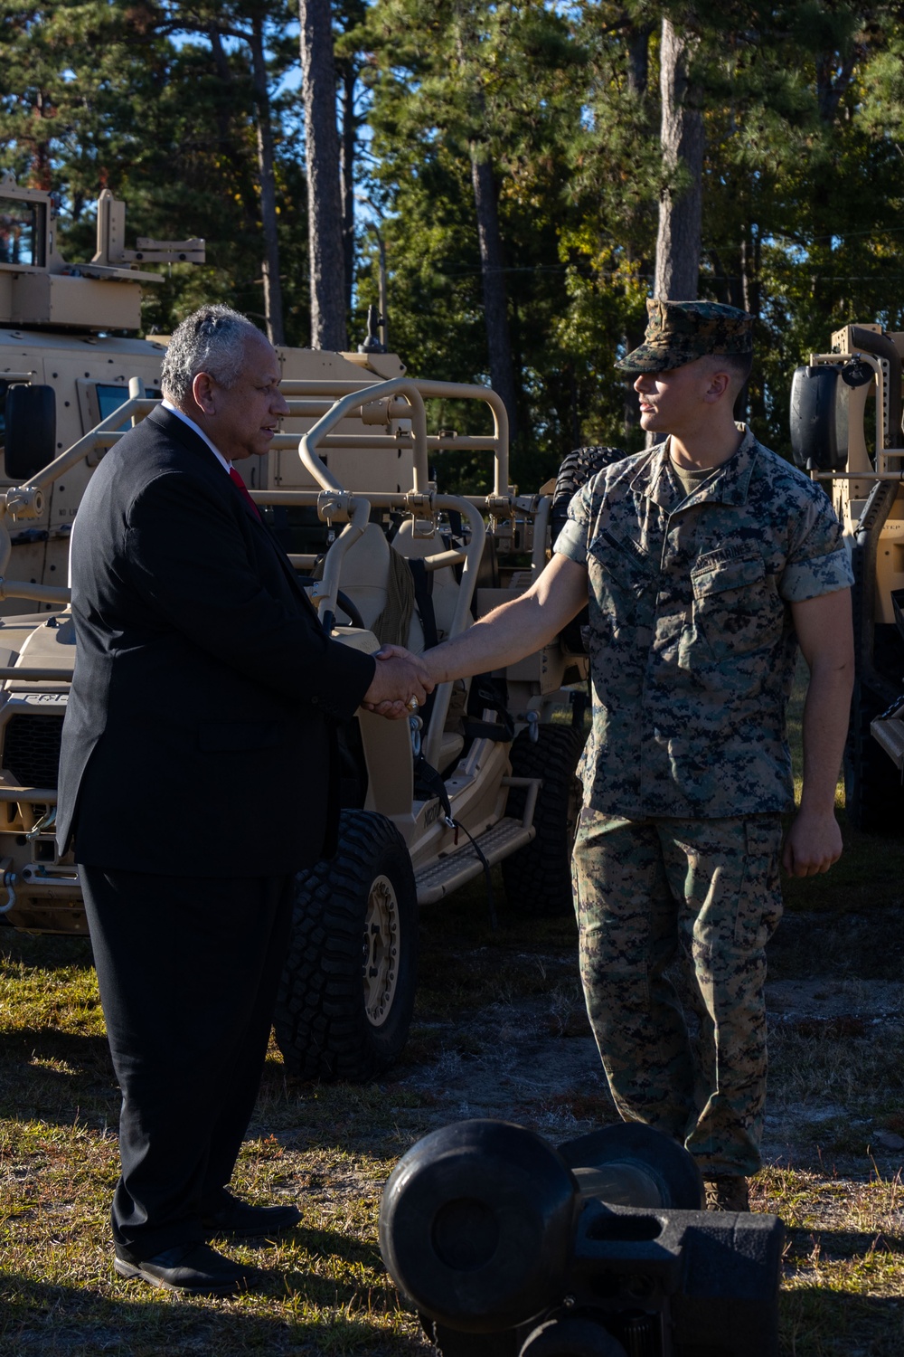
[[729, 560], [702, 556], [691, 570], [694, 626], [714, 660], [771, 645], [782, 604], [759, 552]]

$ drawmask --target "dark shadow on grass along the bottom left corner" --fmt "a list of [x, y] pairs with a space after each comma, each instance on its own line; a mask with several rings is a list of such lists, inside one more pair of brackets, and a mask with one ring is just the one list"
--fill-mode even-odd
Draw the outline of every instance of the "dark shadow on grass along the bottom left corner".
[[122, 1295], [114, 1296], [106, 1293], [106, 1278], [88, 1291], [0, 1277], [0, 1357], [403, 1357], [424, 1350], [381, 1329], [378, 1320], [392, 1323], [393, 1311], [369, 1312], [370, 1297], [362, 1305], [351, 1286], [331, 1286], [329, 1308], [313, 1295], [308, 1300], [306, 1292], [323, 1289], [323, 1280], [301, 1272], [266, 1272], [259, 1289], [236, 1299], [187, 1299], [137, 1282], [119, 1285]]

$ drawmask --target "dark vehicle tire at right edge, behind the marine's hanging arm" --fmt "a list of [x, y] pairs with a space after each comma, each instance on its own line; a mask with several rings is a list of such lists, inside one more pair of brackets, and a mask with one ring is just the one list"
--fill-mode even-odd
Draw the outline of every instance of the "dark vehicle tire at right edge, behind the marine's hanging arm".
[[888, 707], [886, 695], [857, 684], [844, 748], [844, 805], [855, 829], [904, 835], [901, 773], [870, 734], [870, 722]]

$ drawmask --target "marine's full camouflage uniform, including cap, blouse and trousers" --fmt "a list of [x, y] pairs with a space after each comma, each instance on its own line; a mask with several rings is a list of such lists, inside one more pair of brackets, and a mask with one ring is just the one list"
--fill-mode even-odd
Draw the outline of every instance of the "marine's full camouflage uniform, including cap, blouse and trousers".
[[[629, 370], [749, 349], [731, 308], [649, 307]], [[782, 911], [779, 814], [793, 809], [790, 604], [851, 584], [840, 527], [819, 486], [743, 430], [733, 456], [690, 476], [668, 440], [604, 468], [572, 499], [556, 551], [590, 585], [573, 879], [609, 1084], [625, 1120], [683, 1141], [705, 1177], [744, 1177], [760, 1167], [764, 944]], [[694, 1049], [665, 974], [679, 955]]]

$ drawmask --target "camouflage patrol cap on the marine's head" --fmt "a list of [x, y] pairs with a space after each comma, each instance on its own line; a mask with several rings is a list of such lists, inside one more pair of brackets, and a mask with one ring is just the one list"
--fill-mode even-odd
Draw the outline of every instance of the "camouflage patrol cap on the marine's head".
[[754, 318], [718, 301], [646, 303], [644, 342], [615, 364], [622, 372], [665, 372], [707, 353], [754, 351]]

